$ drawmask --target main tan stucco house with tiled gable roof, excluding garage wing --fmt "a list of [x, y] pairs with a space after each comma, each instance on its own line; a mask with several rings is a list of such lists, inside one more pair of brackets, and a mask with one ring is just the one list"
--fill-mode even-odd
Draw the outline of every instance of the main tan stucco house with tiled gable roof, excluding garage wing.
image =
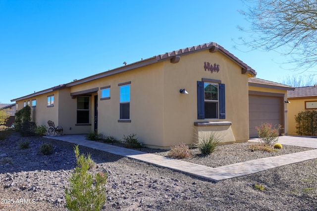
[[[249, 139], [248, 79], [255, 76], [247, 64], [209, 42], [11, 101], [18, 108], [31, 102], [34, 122], [52, 120], [64, 134], [95, 130], [122, 139], [135, 133], [147, 146], [168, 148], [215, 131], [233, 143]], [[280, 91], [259, 87], [263, 90]]]

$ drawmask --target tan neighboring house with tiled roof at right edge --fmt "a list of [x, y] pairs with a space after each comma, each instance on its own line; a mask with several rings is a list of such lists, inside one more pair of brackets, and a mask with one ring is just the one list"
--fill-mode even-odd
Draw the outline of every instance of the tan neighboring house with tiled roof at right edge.
[[293, 91], [287, 91], [287, 99], [291, 102], [288, 109], [289, 134], [298, 135], [295, 116], [308, 109], [317, 110], [317, 86], [296, 87]]

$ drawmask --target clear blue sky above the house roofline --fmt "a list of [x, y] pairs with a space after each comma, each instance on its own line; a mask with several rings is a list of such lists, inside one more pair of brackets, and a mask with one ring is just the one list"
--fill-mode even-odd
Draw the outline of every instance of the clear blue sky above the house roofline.
[[206, 42], [258, 78], [292, 75], [277, 53], [234, 48], [248, 36], [237, 29], [249, 24], [241, 9], [239, 0], [0, 0], [0, 103]]

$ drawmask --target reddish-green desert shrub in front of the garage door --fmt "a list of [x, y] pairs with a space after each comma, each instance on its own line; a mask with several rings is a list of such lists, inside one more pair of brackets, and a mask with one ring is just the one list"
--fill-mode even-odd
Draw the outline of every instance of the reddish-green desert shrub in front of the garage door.
[[269, 123], [263, 123], [261, 127], [256, 127], [260, 141], [266, 145], [273, 145], [277, 142], [281, 128], [281, 125], [278, 125], [277, 128], [272, 128]]

